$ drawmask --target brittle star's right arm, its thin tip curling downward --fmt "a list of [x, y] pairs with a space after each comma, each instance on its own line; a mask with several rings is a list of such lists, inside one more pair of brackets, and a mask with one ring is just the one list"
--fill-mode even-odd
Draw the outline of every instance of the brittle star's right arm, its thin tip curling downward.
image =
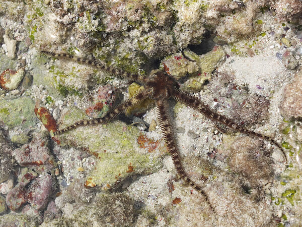
[[213, 111], [207, 104], [205, 104], [198, 98], [196, 98], [193, 95], [188, 94], [184, 91], [178, 90], [177, 92], [174, 93], [173, 98], [176, 101], [180, 101], [180, 102], [196, 109], [197, 111], [201, 112], [205, 117], [209, 118], [212, 122], [219, 122], [235, 131], [239, 131], [241, 133], [256, 136], [256, 137], [265, 139], [265, 140], [273, 143], [282, 151], [283, 156], [285, 158], [285, 164], [287, 163], [287, 157], [286, 157], [286, 154], [285, 154], [282, 146], [276, 140], [271, 138], [270, 136], [256, 132], [254, 130], [248, 129], [247, 127], [236, 124], [231, 119], [226, 118], [225, 116], [220, 115], [219, 113]]

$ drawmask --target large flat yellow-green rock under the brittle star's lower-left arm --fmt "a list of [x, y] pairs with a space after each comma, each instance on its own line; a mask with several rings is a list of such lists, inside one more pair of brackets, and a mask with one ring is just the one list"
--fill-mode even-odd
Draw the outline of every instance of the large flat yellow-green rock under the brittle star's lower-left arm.
[[[76, 107], [70, 108], [61, 119], [62, 127], [81, 119], [87, 119], [85, 113]], [[139, 148], [137, 138], [140, 134], [134, 126], [113, 121], [104, 125], [78, 127], [59, 136], [59, 140], [62, 144], [88, 148], [97, 163], [87, 179], [98, 186], [108, 184], [111, 187], [117, 179], [153, 173], [161, 167], [158, 154]], [[133, 173], [129, 171], [129, 166], [133, 166]]]

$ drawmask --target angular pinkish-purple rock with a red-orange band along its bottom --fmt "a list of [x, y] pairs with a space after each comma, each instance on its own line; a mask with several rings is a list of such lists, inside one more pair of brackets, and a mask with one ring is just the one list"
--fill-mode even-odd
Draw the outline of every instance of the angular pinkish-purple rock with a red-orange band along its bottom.
[[29, 166], [36, 171], [49, 171], [56, 162], [48, 148], [47, 135], [38, 135], [30, 143], [15, 149], [12, 155], [21, 166]]

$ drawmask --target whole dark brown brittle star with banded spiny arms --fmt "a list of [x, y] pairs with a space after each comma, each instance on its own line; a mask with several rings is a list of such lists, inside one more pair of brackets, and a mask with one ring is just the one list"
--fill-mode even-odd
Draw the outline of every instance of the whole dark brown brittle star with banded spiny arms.
[[[179, 154], [177, 143], [175, 140], [175, 135], [173, 133], [173, 128], [171, 124], [171, 119], [168, 114], [168, 99], [172, 98], [176, 101], [184, 103], [185, 105], [201, 112], [206, 118], [210, 119], [212, 122], [221, 123], [226, 127], [229, 127], [235, 131], [239, 131], [241, 133], [245, 133], [248, 135], [256, 136], [263, 138], [274, 145], [276, 145], [283, 153], [285, 162], [286, 155], [282, 149], [282, 146], [273, 138], [268, 135], [264, 135], [262, 133], [256, 132], [254, 130], [250, 130], [245, 126], [236, 124], [233, 120], [220, 115], [219, 113], [212, 110], [207, 104], [201, 101], [199, 98], [193, 96], [190, 93], [180, 90], [180, 84], [174, 79], [172, 76], [165, 74], [164, 72], [156, 72], [149, 77], [143, 77], [138, 74], [131, 74], [129, 72], [124, 72], [120, 69], [113, 69], [111, 67], [107, 67], [107, 65], [101, 61], [97, 61], [95, 59], [86, 59], [86, 58], [77, 58], [75, 56], [66, 54], [66, 53], [53, 53], [49, 51], [41, 51], [43, 53], [52, 55], [56, 58], [65, 57], [72, 60], [75, 60], [80, 63], [88, 64], [90, 66], [94, 66], [100, 68], [101, 70], [107, 71], [112, 75], [126, 79], [129, 81], [134, 81], [143, 85], [144, 90], [138, 92], [134, 95], [134, 97], [129, 98], [122, 102], [121, 104], [117, 105], [113, 109], [111, 109], [106, 116], [103, 118], [98, 119], [91, 119], [91, 120], [81, 120], [75, 122], [73, 125], [70, 125], [66, 128], [60, 129], [54, 132], [54, 135], [62, 134], [66, 131], [74, 129], [79, 126], [86, 126], [86, 125], [96, 125], [96, 124], [106, 124], [114, 119], [116, 119], [119, 115], [126, 113], [127, 109], [140, 104], [145, 99], [153, 99], [156, 103], [156, 110], [157, 115], [160, 123], [160, 129], [163, 134], [164, 142], [167, 147], [167, 150], [172, 156], [172, 160], [176, 171], [181, 179], [183, 179], [187, 184], [189, 184], [194, 190], [201, 193], [204, 197], [209, 206], [212, 208], [208, 196], [204, 191], [203, 187], [196, 184], [189, 175], [184, 171], [183, 164], [181, 162], [181, 156]], [[213, 209], [213, 208], [212, 208]], [[214, 210], [214, 209], [213, 209]]]

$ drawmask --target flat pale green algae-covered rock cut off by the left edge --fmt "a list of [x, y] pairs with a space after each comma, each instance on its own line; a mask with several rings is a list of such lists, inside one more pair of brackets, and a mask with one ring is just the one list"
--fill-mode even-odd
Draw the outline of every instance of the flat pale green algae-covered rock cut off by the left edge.
[[34, 127], [38, 119], [34, 113], [35, 104], [29, 97], [0, 100], [0, 121], [12, 129]]

